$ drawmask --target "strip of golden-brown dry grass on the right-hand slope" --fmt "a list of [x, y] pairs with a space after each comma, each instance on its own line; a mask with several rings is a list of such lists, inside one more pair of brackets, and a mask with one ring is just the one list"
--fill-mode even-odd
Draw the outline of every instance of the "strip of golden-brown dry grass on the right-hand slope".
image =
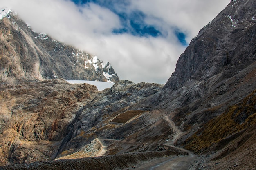
[[229, 106], [220, 116], [185, 141], [185, 148], [200, 152], [214, 143], [256, 123], [256, 90], [240, 103]]

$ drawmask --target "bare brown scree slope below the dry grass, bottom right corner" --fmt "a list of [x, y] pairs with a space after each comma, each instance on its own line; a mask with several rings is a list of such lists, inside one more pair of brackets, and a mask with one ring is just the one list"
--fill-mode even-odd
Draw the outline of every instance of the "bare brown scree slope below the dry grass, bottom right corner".
[[255, 169], [256, 125], [218, 142], [208, 153], [216, 153], [205, 158], [199, 166], [206, 170], [253, 170]]

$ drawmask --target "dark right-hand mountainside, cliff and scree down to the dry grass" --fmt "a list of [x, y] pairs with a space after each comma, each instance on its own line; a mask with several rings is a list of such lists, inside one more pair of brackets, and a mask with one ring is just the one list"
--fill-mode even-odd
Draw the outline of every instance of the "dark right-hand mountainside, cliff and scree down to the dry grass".
[[174, 115], [182, 130], [196, 130], [252, 93], [255, 7], [253, 0], [232, 1], [193, 38], [164, 89], [134, 107], [161, 109]]

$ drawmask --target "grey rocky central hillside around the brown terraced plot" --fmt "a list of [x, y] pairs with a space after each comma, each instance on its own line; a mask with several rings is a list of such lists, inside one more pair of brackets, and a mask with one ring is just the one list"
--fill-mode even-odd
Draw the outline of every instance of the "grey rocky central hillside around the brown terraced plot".
[[[105, 143], [106, 147], [110, 144], [124, 144], [126, 148], [131, 146], [130, 150], [141, 148], [140, 145], [144, 142], [155, 141], [155, 138], [161, 138], [161, 136], [166, 136], [167, 138], [171, 127], [159, 115], [141, 112], [138, 114], [137, 119], [128, 121], [125, 124], [110, 123], [118, 114], [127, 111], [130, 105], [147, 98], [161, 89], [162, 85], [159, 84], [144, 82], [134, 84], [126, 80], [119, 81], [112, 88], [102, 91], [90, 104], [81, 110], [81, 113], [76, 116], [76, 119], [68, 127], [67, 136], [62, 142], [58, 154], [63, 156], [83, 151], [83, 147], [96, 138]], [[152, 126], [152, 124], [159, 124], [159, 122], [156, 123], [157, 120], [166, 126]], [[161, 131], [161, 133], [155, 134], [152, 131], [154, 128]], [[149, 133], [144, 134], [145, 131]], [[133, 138], [132, 135], [137, 136], [137, 138]], [[127, 152], [126, 149], [120, 146], [113, 146], [107, 150], [112, 154]], [[89, 152], [93, 152], [93, 150]]]

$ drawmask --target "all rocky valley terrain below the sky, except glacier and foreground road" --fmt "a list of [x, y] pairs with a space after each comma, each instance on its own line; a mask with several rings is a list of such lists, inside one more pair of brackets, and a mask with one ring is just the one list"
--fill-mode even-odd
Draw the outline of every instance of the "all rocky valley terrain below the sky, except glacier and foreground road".
[[[187, 157], [190, 169], [255, 170], [255, 9], [254, 0], [231, 0], [191, 40], [165, 85], [119, 80], [109, 63], [7, 15], [0, 169], [131, 169]], [[98, 91], [65, 81], [72, 78], [115, 84]]]

